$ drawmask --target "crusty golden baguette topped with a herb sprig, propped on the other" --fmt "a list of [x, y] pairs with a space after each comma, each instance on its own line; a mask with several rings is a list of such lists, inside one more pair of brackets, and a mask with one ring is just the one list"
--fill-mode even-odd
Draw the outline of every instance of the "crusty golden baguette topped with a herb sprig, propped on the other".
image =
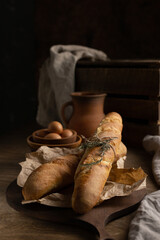
[[110, 148], [101, 155], [100, 147], [87, 148], [75, 173], [72, 208], [83, 214], [98, 202], [112, 168], [112, 163], [126, 155], [126, 147], [121, 142], [122, 118], [118, 113], [106, 115], [96, 131], [102, 140], [112, 138]]

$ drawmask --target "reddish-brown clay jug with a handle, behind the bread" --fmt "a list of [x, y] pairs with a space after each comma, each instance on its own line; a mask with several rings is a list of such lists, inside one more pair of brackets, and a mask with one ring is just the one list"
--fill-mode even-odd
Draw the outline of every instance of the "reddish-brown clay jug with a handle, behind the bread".
[[[63, 104], [61, 109], [62, 118], [67, 128], [77, 131], [78, 135], [91, 137], [96, 131], [100, 121], [104, 118], [105, 93], [96, 92], [73, 92], [72, 100]], [[65, 110], [68, 106], [73, 107], [69, 120], [66, 120]]]

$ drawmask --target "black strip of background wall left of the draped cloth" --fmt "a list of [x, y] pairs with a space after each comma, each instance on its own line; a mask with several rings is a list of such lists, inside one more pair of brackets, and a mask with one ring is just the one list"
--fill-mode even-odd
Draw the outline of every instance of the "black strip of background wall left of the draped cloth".
[[0, 130], [35, 116], [34, 1], [1, 1]]

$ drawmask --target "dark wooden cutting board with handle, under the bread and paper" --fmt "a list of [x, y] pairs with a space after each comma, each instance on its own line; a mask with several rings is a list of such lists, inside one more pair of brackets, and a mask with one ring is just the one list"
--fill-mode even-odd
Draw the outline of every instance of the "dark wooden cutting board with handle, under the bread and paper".
[[113, 219], [134, 211], [145, 195], [146, 189], [143, 189], [133, 192], [129, 196], [114, 197], [104, 201], [90, 212], [79, 215], [71, 208], [50, 207], [39, 203], [21, 204], [23, 197], [21, 188], [17, 185], [16, 180], [8, 186], [6, 191], [7, 202], [15, 210], [38, 219], [76, 224], [94, 231], [96, 230], [100, 240], [113, 239], [107, 234], [105, 225]]

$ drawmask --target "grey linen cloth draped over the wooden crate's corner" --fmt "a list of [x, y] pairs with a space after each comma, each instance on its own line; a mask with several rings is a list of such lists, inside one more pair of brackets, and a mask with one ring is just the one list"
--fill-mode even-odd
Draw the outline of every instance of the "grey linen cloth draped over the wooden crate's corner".
[[40, 70], [36, 116], [40, 125], [47, 127], [53, 120], [63, 122], [61, 107], [71, 100], [70, 94], [75, 91], [75, 66], [84, 58], [109, 60], [104, 52], [84, 46], [55, 45], [50, 48], [50, 57]]

